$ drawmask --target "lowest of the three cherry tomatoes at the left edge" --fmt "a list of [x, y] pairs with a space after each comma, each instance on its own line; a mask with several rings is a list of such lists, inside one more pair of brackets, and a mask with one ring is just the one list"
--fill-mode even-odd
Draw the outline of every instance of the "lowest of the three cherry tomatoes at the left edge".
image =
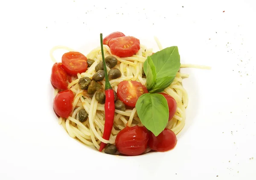
[[62, 118], [67, 118], [72, 112], [74, 94], [71, 90], [64, 90], [58, 93], [53, 100], [55, 113]]

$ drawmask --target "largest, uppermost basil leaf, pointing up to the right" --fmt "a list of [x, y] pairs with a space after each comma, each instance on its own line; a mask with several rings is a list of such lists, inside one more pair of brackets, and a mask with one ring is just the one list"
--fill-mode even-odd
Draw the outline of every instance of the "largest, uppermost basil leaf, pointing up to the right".
[[[168, 87], [175, 79], [175, 76], [178, 70], [180, 69], [180, 54], [178, 51], [178, 47], [172, 46], [152, 54], [150, 58], [154, 63], [157, 77], [154, 86], [148, 90], [150, 93], [158, 93], [163, 91], [166, 87]], [[143, 64], [146, 76], [148, 76], [147, 64], [148, 59]], [[152, 66], [150, 66], [150, 68], [152, 68]]]

